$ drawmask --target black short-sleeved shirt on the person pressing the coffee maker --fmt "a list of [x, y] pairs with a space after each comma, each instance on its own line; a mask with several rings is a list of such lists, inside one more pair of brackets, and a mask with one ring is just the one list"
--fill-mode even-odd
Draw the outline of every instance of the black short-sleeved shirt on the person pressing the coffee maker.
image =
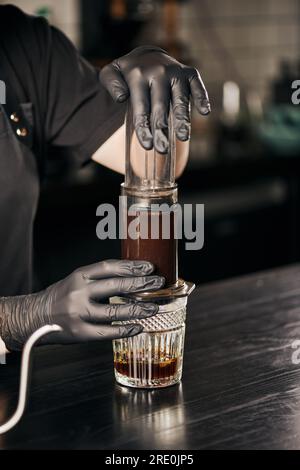
[[0, 113], [3, 296], [31, 291], [32, 227], [47, 158], [55, 151], [76, 165], [88, 161], [122, 125], [124, 106], [113, 102], [99, 71], [80, 57], [63, 33], [10, 5], [0, 6], [0, 79], [1, 70], [8, 93], [17, 96], [33, 124], [28, 150]]

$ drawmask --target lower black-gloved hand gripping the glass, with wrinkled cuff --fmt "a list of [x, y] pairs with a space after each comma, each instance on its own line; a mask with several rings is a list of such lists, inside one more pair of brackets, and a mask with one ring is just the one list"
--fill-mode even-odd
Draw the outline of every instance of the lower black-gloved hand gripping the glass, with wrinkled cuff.
[[[112, 321], [148, 318], [158, 306], [151, 303], [109, 304], [115, 295], [160, 289], [164, 278], [149, 276], [146, 261], [109, 260], [79, 268], [62, 281], [36, 294], [0, 298], [0, 336], [10, 350], [20, 350], [28, 337], [45, 324], [62, 332], [43, 344], [101, 341], [137, 335], [137, 324], [112, 326]], [[104, 302], [104, 303], [102, 303]]]

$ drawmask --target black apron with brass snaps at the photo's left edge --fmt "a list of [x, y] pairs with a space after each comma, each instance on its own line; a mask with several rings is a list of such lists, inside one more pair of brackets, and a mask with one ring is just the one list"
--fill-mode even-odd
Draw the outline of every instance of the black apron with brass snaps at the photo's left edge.
[[0, 105], [0, 296], [32, 291], [33, 224], [39, 174], [31, 103]]

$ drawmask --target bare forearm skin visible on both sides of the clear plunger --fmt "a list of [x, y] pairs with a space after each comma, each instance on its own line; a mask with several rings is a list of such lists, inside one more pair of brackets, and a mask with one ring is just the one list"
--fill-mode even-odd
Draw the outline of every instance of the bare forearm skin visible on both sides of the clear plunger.
[[[189, 142], [176, 142], [176, 169], [178, 178], [184, 171], [189, 156]], [[120, 127], [98, 150], [92, 159], [113, 171], [125, 173], [125, 125]]]

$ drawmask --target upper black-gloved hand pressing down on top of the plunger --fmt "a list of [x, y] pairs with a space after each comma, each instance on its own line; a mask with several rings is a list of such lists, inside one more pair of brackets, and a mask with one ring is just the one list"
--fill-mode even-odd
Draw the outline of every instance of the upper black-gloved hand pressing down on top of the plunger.
[[[102, 84], [117, 102], [130, 96], [134, 126], [140, 144], [160, 153], [168, 151], [168, 114], [172, 101], [176, 136], [190, 137], [190, 96], [199, 113], [210, 113], [207, 91], [198, 70], [181, 64], [154, 46], [137, 47], [106, 65]], [[150, 119], [151, 114], [151, 119]]]

